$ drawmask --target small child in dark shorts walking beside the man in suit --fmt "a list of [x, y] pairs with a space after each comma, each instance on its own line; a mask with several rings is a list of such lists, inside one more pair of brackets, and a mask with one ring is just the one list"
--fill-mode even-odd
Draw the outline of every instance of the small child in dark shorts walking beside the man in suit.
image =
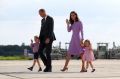
[[33, 62], [32, 67], [30, 67], [28, 69], [32, 71], [35, 64], [37, 63], [39, 66], [39, 70], [38, 70], [38, 72], [39, 72], [39, 71], [42, 71], [40, 62], [39, 62], [39, 54], [38, 54], [38, 49], [39, 49], [39, 44], [40, 44], [39, 37], [34, 36], [34, 41], [35, 41], [35, 43], [33, 43], [33, 40], [31, 40], [31, 48], [32, 48], [33, 54], [34, 54], [34, 62]]

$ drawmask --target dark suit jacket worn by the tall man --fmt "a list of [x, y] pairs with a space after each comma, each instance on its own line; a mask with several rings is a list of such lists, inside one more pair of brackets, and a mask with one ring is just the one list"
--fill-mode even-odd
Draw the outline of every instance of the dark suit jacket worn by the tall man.
[[47, 16], [46, 19], [43, 18], [41, 20], [41, 30], [40, 30], [40, 42], [45, 43], [45, 40], [49, 38], [50, 42], [53, 42], [56, 40], [55, 34], [54, 34], [54, 20], [52, 17]]

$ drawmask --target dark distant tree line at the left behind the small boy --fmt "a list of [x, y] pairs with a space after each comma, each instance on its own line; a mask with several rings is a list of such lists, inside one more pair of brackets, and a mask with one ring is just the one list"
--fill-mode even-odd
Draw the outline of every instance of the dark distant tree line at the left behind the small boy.
[[0, 45], [0, 56], [24, 55], [24, 49], [31, 50], [30, 46], [25, 45]]

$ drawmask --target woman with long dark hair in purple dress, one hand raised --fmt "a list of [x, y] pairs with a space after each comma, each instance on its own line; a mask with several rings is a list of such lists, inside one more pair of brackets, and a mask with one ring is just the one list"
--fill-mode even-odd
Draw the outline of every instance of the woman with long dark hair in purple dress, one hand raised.
[[[80, 42], [83, 41], [83, 26], [82, 22], [79, 20], [78, 15], [75, 11], [70, 13], [70, 20], [66, 20], [68, 32], [73, 32], [70, 41], [69, 49], [66, 56], [66, 62], [61, 71], [68, 70], [68, 63], [70, 61], [71, 55], [82, 56], [83, 50]], [[84, 69], [84, 63], [82, 64], [82, 70]]]

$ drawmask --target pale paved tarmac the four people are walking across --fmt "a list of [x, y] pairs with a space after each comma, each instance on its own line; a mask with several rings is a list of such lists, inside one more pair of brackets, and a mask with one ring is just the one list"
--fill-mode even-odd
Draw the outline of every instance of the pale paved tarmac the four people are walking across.
[[[53, 60], [53, 72], [37, 72], [27, 70], [32, 61], [0, 61], [0, 79], [120, 79], [120, 60], [96, 60], [96, 71], [80, 73], [81, 61], [72, 60], [67, 72], [61, 72], [64, 60]], [[44, 66], [41, 62], [42, 68]]]

